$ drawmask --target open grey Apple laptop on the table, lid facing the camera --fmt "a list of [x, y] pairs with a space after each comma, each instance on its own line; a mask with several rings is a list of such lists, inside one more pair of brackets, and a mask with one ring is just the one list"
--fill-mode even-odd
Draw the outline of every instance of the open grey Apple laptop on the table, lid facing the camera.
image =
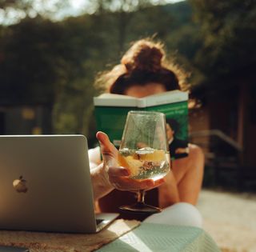
[[0, 229], [96, 233], [118, 214], [94, 214], [83, 135], [0, 136]]

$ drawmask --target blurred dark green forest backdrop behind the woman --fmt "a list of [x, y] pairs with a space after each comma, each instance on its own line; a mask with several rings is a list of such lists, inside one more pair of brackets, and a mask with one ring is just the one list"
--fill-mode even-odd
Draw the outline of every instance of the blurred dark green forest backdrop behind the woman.
[[[150, 1], [90, 1], [94, 11], [54, 19], [54, 10], [33, 10], [30, 1], [0, 1], [0, 9], [22, 11], [14, 24], [0, 26], [0, 99], [50, 106], [53, 133], [94, 138], [93, 97], [99, 71], [118, 63], [139, 38], [166, 44], [170, 58], [191, 73], [192, 94], [232, 86], [256, 63], [254, 0], [190, 0], [153, 5]], [[43, 1], [47, 2], [47, 1]], [[31, 14], [32, 13], [32, 14]], [[249, 77], [248, 77], [249, 78]]]

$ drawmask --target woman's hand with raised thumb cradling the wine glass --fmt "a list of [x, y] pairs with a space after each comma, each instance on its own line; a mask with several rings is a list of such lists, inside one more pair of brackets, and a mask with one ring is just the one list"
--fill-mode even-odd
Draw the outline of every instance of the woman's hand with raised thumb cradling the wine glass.
[[156, 181], [153, 179], [135, 180], [129, 178], [130, 171], [126, 169], [126, 167], [119, 166], [118, 150], [110, 142], [108, 136], [105, 133], [98, 131], [96, 137], [101, 146], [104, 169], [109, 176], [109, 181], [118, 190], [150, 190], [160, 186], [164, 182], [163, 178]]

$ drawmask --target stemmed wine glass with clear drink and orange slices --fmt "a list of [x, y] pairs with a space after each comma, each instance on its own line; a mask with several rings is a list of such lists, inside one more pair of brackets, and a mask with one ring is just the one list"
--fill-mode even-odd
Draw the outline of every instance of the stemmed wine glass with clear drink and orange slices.
[[[153, 111], [130, 111], [119, 147], [118, 161], [136, 180], [163, 178], [170, 171], [170, 153], [166, 138], [165, 114]], [[146, 188], [145, 188], [146, 189]], [[146, 205], [145, 190], [138, 190], [138, 201], [121, 210], [158, 213], [160, 208]]]

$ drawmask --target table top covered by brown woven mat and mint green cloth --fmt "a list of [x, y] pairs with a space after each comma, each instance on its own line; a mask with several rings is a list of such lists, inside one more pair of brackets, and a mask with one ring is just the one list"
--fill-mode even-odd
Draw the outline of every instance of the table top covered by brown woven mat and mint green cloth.
[[210, 235], [200, 228], [138, 224], [120, 219], [97, 234], [1, 230], [0, 245], [23, 246], [31, 252], [220, 252]]

